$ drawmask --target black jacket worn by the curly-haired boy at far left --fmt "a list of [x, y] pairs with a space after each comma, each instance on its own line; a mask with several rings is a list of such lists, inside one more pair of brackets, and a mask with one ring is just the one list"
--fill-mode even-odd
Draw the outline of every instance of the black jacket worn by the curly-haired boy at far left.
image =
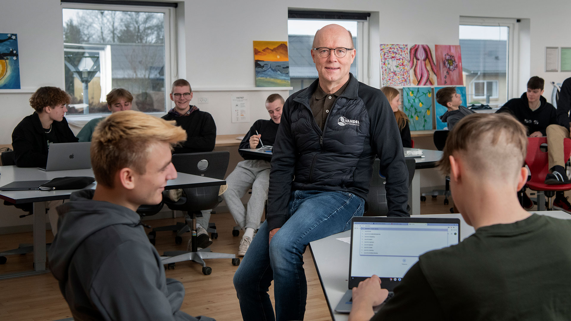
[[[78, 139], [64, 117], [61, 122], [51, 123], [59, 143], [74, 143]], [[47, 138], [38, 114], [24, 117], [12, 132], [14, 163], [18, 167], [44, 167], [47, 163]]]

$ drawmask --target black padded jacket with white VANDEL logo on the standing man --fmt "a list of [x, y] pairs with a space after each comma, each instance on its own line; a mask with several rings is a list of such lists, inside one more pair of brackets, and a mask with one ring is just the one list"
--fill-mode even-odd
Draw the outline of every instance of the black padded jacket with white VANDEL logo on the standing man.
[[388, 215], [408, 216], [403, 144], [385, 95], [350, 74], [322, 131], [309, 109], [317, 86], [319, 80], [291, 95], [284, 105], [270, 171], [268, 228], [287, 221], [293, 190], [347, 191], [367, 199], [375, 155], [387, 178]]

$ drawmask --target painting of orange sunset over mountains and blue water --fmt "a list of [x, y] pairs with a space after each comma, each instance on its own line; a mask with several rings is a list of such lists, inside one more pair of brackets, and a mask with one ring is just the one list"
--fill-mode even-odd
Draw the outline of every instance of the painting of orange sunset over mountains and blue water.
[[254, 41], [256, 87], [289, 87], [287, 41]]

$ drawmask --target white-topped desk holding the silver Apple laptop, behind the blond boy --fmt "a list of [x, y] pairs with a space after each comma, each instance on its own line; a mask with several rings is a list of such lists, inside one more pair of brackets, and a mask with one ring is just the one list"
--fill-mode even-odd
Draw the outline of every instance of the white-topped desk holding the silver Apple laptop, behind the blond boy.
[[[165, 189], [187, 187], [201, 187], [212, 185], [223, 185], [226, 181], [203, 176], [196, 176], [184, 173], [177, 173], [176, 179], [168, 180]], [[0, 186], [4, 186], [17, 180], [41, 180], [53, 179], [63, 176], [94, 176], [93, 170], [67, 170], [67, 171], [42, 171], [35, 167], [23, 168], [16, 166], [0, 167]], [[94, 189], [96, 183], [90, 184], [86, 188]], [[0, 191], [0, 199], [7, 200], [10, 203], [34, 203], [34, 271], [17, 272], [14, 274], [0, 275], [0, 279], [14, 278], [17, 276], [33, 275], [46, 272], [46, 200], [69, 199], [70, 194], [76, 190], [59, 190], [59, 191]], [[37, 215], [39, 214], [39, 215]]]

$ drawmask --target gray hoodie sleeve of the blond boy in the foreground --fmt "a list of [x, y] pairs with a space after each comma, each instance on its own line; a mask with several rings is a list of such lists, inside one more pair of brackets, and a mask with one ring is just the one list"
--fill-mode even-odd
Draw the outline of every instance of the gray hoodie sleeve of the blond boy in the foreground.
[[90, 289], [94, 305], [106, 320], [186, 320], [194, 318], [182, 311], [182, 283], [164, 277], [163, 267], [143, 244], [120, 244], [101, 264]]

